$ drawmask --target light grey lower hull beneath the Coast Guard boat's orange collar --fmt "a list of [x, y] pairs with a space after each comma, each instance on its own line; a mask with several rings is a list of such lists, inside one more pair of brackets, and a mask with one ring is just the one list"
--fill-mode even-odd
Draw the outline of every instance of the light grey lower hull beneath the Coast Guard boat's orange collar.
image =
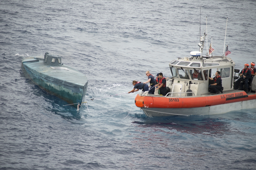
[[223, 114], [234, 110], [256, 107], [256, 99], [199, 108], [142, 108], [149, 116], [190, 116]]

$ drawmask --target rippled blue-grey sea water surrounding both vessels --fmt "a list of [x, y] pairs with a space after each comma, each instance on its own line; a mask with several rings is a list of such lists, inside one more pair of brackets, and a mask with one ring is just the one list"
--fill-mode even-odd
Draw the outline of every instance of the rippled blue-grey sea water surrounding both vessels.
[[[256, 169], [255, 109], [147, 117], [138, 92], [90, 100], [130, 91], [147, 70], [170, 76], [170, 61], [198, 50], [200, 6], [214, 55], [228, 17], [228, 57], [240, 70], [256, 62], [255, 1], [1, 0], [0, 169]], [[22, 59], [45, 52], [88, 77], [90, 112], [25, 77]]]

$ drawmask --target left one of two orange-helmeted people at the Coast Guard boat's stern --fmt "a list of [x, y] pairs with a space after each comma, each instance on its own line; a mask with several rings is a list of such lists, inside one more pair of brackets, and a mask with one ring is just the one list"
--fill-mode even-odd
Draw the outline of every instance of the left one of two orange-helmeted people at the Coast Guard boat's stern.
[[240, 78], [237, 79], [236, 84], [234, 85], [234, 89], [237, 90], [240, 84], [240, 90], [243, 90], [243, 81], [245, 84], [245, 92], [248, 93], [248, 81], [251, 78], [251, 71], [248, 68], [249, 64], [244, 64], [244, 69], [240, 72]]

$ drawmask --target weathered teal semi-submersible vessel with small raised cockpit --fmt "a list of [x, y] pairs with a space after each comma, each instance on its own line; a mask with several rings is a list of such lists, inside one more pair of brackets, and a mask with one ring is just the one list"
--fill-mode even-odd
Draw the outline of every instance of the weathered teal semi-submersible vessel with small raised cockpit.
[[73, 104], [74, 107], [79, 108], [84, 100], [88, 84], [87, 77], [61, 64], [61, 56], [45, 53], [44, 58], [26, 58], [22, 60], [22, 70], [25, 76], [40, 88]]

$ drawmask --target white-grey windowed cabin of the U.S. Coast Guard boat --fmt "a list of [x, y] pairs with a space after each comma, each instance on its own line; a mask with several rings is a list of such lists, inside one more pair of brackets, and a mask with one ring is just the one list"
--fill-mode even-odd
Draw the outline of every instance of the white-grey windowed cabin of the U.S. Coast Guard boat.
[[173, 60], [169, 63], [172, 77], [166, 81], [166, 86], [170, 89], [167, 92], [173, 93], [167, 96], [199, 96], [209, 93], [209, 85], [214, 84], [214, 80], [209, 80], [209, 77], [214, 78], [217, 71], [220, 72], [222, 87], [231, 89], [234, 66], [231, 58], [221, 56], [202, 56], [202, 59], [194, 56]]

